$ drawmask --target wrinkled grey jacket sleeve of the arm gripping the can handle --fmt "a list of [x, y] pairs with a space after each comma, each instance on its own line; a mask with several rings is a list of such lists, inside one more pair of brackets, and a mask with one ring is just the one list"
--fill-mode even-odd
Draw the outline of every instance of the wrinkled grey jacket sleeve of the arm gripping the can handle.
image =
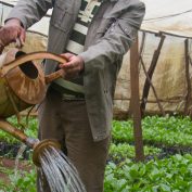
[[[118, 2], [117, 2], [118, 3]], [[145, 13], [142, 2], [133, 3], [111, 24], [105, 35], [79, 55], [85, 61], [85, 73], [104, 68], [107, 63], [119, 60], [130, 48]]]

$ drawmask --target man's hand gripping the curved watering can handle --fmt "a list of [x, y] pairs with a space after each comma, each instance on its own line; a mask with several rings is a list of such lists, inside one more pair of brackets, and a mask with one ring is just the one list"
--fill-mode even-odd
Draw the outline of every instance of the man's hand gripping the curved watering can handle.
[[60, 67], [63, 68], [66, 73], [66, 78], [74, 78], [84, 71], [84, 60], [72, 53], [61, 54], [67, 60], [67, 63], [60, 64]]

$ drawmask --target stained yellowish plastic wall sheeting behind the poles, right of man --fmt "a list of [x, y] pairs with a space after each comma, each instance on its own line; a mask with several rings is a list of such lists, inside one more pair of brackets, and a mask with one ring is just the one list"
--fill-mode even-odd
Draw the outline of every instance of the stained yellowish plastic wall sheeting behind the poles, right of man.
[[[139, 40], [141, 42], [142, 33]], [[153, 54], [158, 47], [161, 37], [154, 34], [146, 34], [142, 59], [146, 71], [149, 69]], [[161, 54], [152, 77], [157, 98], [165, 113], [183, 113], [188, 85], [185, 79], [185, 55], [184, 40], [175, 36], [166, 36]], [[192, 57], [192, 39], [189, 40], [189, 56]], [[190, 81], [192, 84], [192, 67], [190, 68]], [[129, 112], [130, 102], [130, 62], [129, 52], [124, 57], [120, 69], [116, 93], [115, 93], [115, 114], [126, 115]], [[142, 97], [143, 85], [146, 79], [145, 73], [139, 64], [140, 98]], [[191, 104], [188, 106], [191, 107]], [[146, 113], [159, 114], [159, 108], [152, 88], [150, 88]]]

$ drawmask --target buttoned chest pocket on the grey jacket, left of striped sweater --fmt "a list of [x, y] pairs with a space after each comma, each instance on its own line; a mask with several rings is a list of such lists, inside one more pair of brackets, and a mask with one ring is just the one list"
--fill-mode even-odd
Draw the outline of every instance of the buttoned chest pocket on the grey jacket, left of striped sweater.
[[75, 21], [75, 14], [72, 11], [72, 3], [63, 2], [63, 0], [56, 0], [50, 24], [55, 28], [68, 31]]

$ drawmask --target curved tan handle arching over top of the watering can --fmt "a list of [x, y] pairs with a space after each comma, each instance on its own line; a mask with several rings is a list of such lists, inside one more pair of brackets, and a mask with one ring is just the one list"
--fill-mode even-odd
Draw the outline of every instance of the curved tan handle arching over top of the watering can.
[[[54, 53], [50, 53], [50, 52], [34, 52], [34, 53], [28, 53], [25, 55], [22, 55], [20, 57], [17, 57], [16, 60], [4, 64], [2, 67], [0, 67], [0, 76], [3, 77], [8, 74], [9, 71], [17, 67], [18, 65], [24, 64], [25, 62], [29, 62], [33, 60], [42, 60], [42, 59], [47, 59], [47, 60], [54, 60], [59, 63], [66, 63], [67, 60], [64, 59], [61, 55], [54, 54]], [[64, 77], [65, 76], [65, 72], [64, 69], [59, 69], [50, 75], [47, 75], [46, 78], [46, 84], [51, 82], [52, 80], [60, 78], [60, 77]]]

